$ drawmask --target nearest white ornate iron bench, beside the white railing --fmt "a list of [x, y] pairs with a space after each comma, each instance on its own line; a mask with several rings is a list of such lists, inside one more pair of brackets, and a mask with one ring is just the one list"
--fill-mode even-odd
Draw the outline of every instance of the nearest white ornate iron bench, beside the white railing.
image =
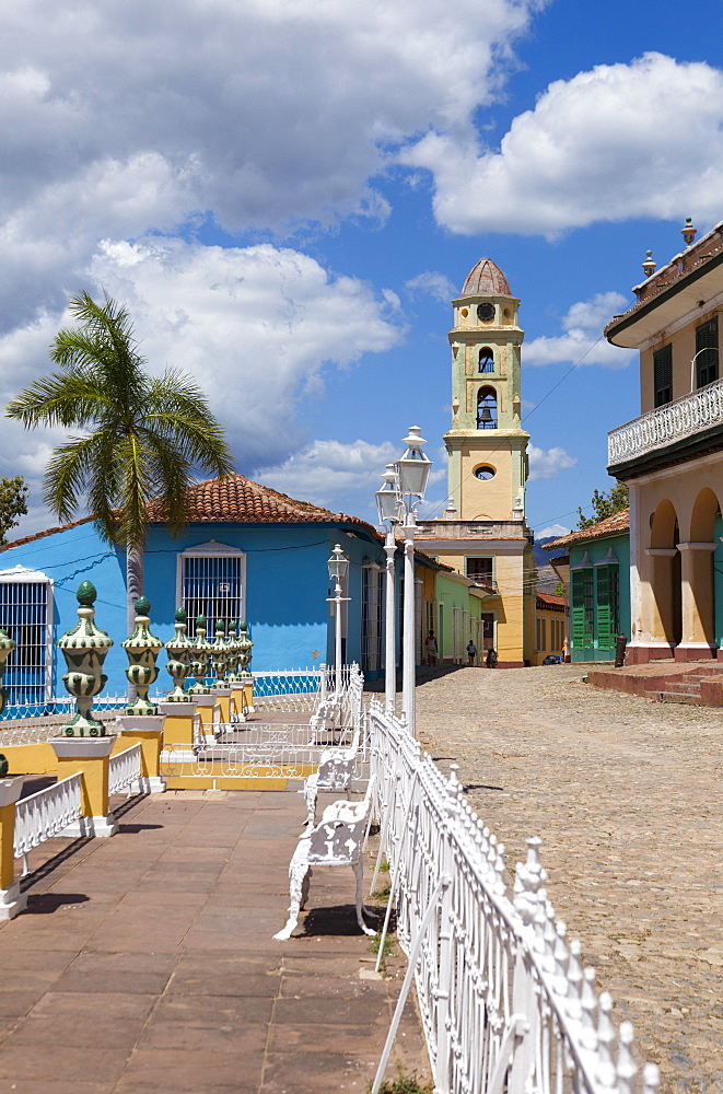
[[363, 920], [362, 913], [373, 912], [362, 905], [362, 848], [372, 807], [373, 780], [361, 802], [334, 802], [324, 810], [319, 824], [296, 845], [289, 863], [289, 919], [273, 938], [284, 942], [299, 922], [299, 912], [308, 898], [312, 866], [351, 866], [357, 878], [357, 922], [364, 934], [376, 934]]

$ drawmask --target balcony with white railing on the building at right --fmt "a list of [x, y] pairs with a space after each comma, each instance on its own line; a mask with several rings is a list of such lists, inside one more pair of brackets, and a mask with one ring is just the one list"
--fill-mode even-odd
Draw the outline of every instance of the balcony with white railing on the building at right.
[[723, 380], [656, 407], [607, 435], [608, 472], [633, 478], [723, 449]]

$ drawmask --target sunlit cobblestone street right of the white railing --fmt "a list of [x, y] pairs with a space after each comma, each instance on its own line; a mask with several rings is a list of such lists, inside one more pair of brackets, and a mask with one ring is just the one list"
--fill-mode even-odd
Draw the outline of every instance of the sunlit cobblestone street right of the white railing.
[[723, 712], [593, 688], [582, 666], [464, 668], [419, 735], [548, 894], [662, 1090], [723, 1092]]

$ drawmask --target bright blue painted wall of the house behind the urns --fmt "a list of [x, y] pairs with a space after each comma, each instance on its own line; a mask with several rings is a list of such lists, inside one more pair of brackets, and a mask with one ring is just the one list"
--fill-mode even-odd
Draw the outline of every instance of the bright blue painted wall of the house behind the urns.
[[[162, 641], [173, 635], [177, 607], [177, 556], [187, 547], [217, 540], [246, 554], [246, 617], [254, 641], [255, 671], [299, 668], [334, 660], [334, 618], [326, 597], [327, 559], [335, 543], [349, 558], [348, 642], [345, 660], [361, 659], [362, 562], [384, 562], [381, 544], [364, 529], [326, 524], [189, 525], [173, 540], [161, 527], [151, 529], [145, 552], [145, 593], [151, 601], [152, 631]], [[106, 691], [124, 693], [128, 664], [120, 642], [126, 635], [125, 551], [104, 544], [91, 523], [0, 552], [0, 570], [15, 566], [38, 570], [54, 580], [54, 642], [75, 625], [75, 590], [89, 579], [98, 591], [96, 622], [108, 632]], [[317, 656], [314, 657], [314, 652]], [[57, 651], [56, 651], [57, 653]], [[165, 654], [159, 659], [159, 685], [165, 689]], [[53, 693], [62, 695], [62, 657], [54, 659]]]

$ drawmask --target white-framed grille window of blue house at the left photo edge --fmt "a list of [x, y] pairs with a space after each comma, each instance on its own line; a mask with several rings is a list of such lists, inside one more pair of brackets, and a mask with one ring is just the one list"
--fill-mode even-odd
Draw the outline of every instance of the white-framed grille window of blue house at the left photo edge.
[[0, 627], [18, 643], [2, 678], [11, 706], [43, 707], [50, 698], [50, 589], [49, 580], [0, 578]]

